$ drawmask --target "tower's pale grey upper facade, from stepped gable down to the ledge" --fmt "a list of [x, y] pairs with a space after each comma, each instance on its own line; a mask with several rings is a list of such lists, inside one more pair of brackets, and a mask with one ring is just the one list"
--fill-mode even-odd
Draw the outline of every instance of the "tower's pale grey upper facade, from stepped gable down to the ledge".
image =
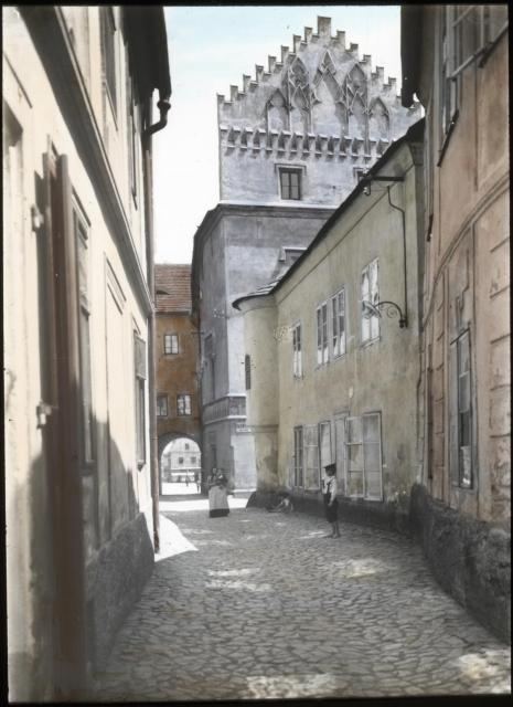
[[[339, 204], [407, 127], [420, 106], [405, 109], [396, 80], [372, 71], [372, 57], [345, 32], [331, 35], [330, 18], [313, 33], [293, 36], [280, 61], [243, 76], [242, 91], [217, 98], [221, 200], [256, 203], [279, 200], [279, 170], [299, 169], [301, 200]], [[250, 184], [250, 187], [248, 187]]]

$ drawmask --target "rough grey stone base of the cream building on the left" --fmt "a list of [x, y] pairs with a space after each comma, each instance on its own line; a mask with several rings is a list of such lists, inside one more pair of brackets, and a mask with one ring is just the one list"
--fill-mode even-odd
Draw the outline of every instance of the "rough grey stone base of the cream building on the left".
[[88, 656], [105, 664], [116, 633], [153, 571], [153, 546], [143, 514], [118, 530], [87, 566]]

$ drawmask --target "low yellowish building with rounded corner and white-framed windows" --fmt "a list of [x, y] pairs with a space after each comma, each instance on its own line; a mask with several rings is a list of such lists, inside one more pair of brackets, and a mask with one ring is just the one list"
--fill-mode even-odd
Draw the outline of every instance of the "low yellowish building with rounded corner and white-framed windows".
[[408, 521], [416, 453], [424, 120], [394, 143], [281, 279], [238, 298], [259, 492]]

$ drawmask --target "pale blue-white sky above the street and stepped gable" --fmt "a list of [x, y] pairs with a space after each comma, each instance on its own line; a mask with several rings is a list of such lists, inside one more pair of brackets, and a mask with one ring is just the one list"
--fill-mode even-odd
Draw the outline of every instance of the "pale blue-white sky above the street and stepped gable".
[[292, 48], [292, 34], [317, 31], [331, 17], [332, 35], [371, 54], [372, 70], [400, 89], [399, 6], [180, 6], [165, 7], [171, 70], [168, 126], [153, 136], [157, 263], [190, 263], [194, 233], [218, 200], [217, 94], [242, 89], [243, 74]]

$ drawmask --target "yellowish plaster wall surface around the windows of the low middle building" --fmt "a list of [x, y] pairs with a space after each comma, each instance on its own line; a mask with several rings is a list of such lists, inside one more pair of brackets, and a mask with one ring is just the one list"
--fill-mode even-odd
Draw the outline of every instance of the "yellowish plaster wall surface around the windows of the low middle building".
[[[406, 208], [408, 270], [408, 327], [399, 329], [397, 319], [384, 316], [380, 323], [380, 339], [362, 345], [360, 334], [360, 277], [363, 267], [378, 257], [380, 299], [403, 304], [403, 232], [399, 213], [391, 209], [386, 192], [380, 187], [371, 197], [361, 194], [332, 225], [322, 241], [302, 258], [293, 273], [280, 285], [274, 297], [277, 309], [277, 357], [272, 348], [260, 347], [267, 367], [255, 370], [255, 388], [277, 366], [279, 378], [278, 486], [291, 486], [293, 428], [331, 424], [332, 458], [335, 458], [335, 419], [342, 415], [382, 413], [383, 498], [393, 500], [408, 492], [417, 478], [416, 419], [419, 377], [417, 312], [417, 218], [419, 210], [417, 175], [409, 147], [399, 149], [383, 173], [403, 173], [405, 181], [391, 190], [394, 203]], [[345, 287], [346, 352], [323, 366], [317, 365], [316, 308]], [[250, 302], [250, 300], [249, 300]], [[254, 300], [257, 302], [257, 298]], [[248, 308], [250, 304], [246, 305]], [[246, 337], [256, 338], [259, 310], [245, 314]], [[260, 315], [261, 316], [261, 315]], [[292, 374], [291, 327], [302, 327], [303, 376]], [[253, 384], [253, 383], [252, 383]], [[265, 416], [263, 405], [258, 412]], [[249, 412], [249, 415], [253, 414]], [[250, 418], [257, 422], [257, 414]], [[339, 473], [342, 467], [339, 466]], [[269, 474], [268, 478], [271, 478]], [[342, 493], [344, 477], [341, 474]], [[302, 489], [298, 493], [308, 494]]]

